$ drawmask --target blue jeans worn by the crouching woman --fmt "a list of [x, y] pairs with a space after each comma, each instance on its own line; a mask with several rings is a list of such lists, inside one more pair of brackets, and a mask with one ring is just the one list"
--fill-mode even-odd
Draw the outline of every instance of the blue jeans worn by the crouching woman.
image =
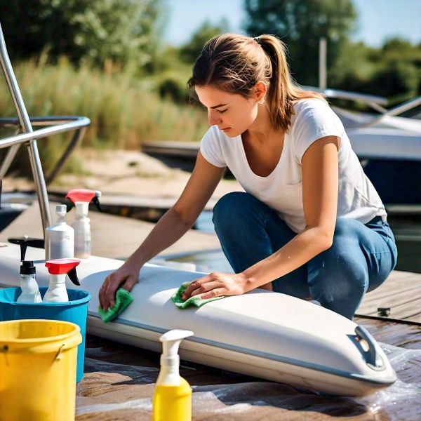
[[[255, 265], [297, 235], [254, 196], [233, 192], [213, 208], [213, 224], [234, 272]], [[376, 217], [366, 225], [338, 218], [333, 244], [305, 265], [272, 281], [274, 291], [317, 300], [352, 319], [364, 294], [380, 286], [396, 266], [392, 229]]]

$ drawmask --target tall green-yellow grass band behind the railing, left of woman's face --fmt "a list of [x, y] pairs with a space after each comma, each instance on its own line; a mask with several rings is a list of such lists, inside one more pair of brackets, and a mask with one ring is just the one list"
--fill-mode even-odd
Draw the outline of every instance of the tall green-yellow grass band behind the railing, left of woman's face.
[[[150, 78], [107, 74], [87, 66], [74, 69], [64, 59], [55, 66], [21, 62], [14, 70], [29, 116], [79, 115], [91, 119], [82, 147], [140, 149], [145, 140], [199, 141], [208, 129], [203, 110], [161, 100]], [[0, 98], [0, 116], [16, 116], [5, 81], [0, 83]], [[39, 140], [46, 171], [53, 167], [71, 135]], [[74, 158], [65, 169], [78, 171]]]

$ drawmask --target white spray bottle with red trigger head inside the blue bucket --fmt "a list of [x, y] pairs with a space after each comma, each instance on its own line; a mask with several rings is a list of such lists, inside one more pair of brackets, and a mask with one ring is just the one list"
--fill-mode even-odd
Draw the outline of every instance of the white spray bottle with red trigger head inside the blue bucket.
[[50, 283], [44, 302], [68, 302], [69, 296], [66, 289], [66, 275], [75, 285], [80, 285], [77, 279], [76, 266], [80, 261], [76, 259], [47, 260], [46, 267], [50, 274]]

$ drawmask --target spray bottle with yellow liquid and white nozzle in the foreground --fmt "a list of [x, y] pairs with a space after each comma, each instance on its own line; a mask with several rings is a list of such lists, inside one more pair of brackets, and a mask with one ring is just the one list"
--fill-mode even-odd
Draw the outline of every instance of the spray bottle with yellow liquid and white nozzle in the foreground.
[[190, 330], [174, 329], [159, 338], [163, 352], [152, 401], [152, 421], [192, 419], [192, 388], [180, 377], [178, 356], [180, 342], [192, 335]]

